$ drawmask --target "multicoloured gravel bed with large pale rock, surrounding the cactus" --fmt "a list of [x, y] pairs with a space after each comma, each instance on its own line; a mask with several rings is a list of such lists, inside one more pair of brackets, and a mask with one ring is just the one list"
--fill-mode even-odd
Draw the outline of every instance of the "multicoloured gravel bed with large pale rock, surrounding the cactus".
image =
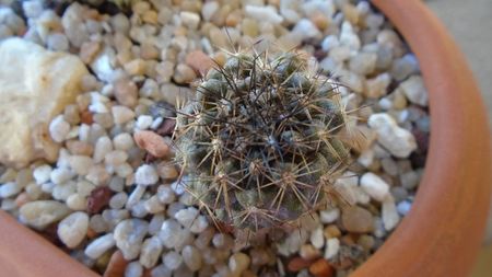
[[[0, 201], [20, 222], [101, 274], [124, 258], [127, 277], [341, 277], [410, 211], [427, 94], [414, 55], [367, 1], [101, 2], [0, 8]], [[175, 159], [175, 107], [251, 48], [296, 49], [329, 73], [363, 138], [332, 181], [343, 201], [286, 231], [216, 224]]]

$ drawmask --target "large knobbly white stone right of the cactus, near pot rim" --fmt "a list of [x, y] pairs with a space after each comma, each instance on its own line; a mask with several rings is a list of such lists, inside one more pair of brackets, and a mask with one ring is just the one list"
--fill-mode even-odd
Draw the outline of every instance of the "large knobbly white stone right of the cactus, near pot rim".
[[377, 141], [397, 158], [408, 158], [417, 149], [412, 134], [399, 127], [388, 114], [373, 114], [367, 120], [377, 134]]

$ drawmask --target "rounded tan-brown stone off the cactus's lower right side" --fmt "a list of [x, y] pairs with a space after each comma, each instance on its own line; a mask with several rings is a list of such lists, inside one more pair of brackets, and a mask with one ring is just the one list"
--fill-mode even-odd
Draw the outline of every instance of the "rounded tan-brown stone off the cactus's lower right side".
[[349, 232], [367, 233], [373, 230], [373, 216], [366, 209], [358, 206], [344, 209], [341, 220]]

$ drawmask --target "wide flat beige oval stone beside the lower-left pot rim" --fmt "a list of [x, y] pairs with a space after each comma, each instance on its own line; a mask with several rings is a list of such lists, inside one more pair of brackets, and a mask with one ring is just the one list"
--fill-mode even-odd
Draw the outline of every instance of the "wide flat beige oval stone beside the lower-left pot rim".
[[70, 209], [59, 201], [38, 200], [24, 204], [19, 212], [21, 220], [26, 224], [36, 229], [44, 229], [65, 218], [70, 213]]

